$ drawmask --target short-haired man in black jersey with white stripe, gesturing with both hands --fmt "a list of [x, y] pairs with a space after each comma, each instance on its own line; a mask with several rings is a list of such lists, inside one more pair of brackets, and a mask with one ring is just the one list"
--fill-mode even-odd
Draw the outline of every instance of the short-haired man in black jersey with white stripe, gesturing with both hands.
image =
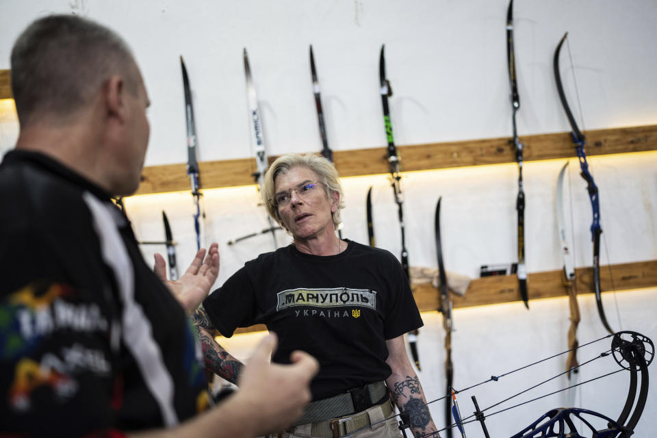
[[294, 352], [271, 365], [267, 337], [240, 391], [207, 409], [187, 315], [216, 280], [217, 246], [165, 285], [164, 259], [156, 276], [111, 202], [137, 189], [149, 139], [125, 42], [49, 16], [18, 37], [11, 62], [21, 133], [0, 165], [1, 433], [253, 437], [289, 424], [316, 361]]

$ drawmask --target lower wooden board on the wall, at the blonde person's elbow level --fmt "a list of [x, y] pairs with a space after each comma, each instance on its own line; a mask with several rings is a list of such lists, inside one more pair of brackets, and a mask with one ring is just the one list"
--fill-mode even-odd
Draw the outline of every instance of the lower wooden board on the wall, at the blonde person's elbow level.
[[[610, 272], [611, 271], [611, 272]], [[578, 268], [577, 293], [592, 294], [593, 268]], [[613, 279], [613, 287], [612, 287]], [[534, 272], [528, 274], [528, 296], [531, 309], [532, 300], [566, 296], [562, 270]], [[622, 263], [600, 267], [600, 289], [603, 292], [626, 291], [641, 287], [657, 286], [657, 260]], [[440, 307], [439, 292], [430, 284], [414, 287], [413, 296], [421, 312], [435, 311]], [[464, 296], [452, 294], [454, 308], [500, 304], [502, 302], [521, 302], [518, 281], [515, 275], [487, 276], [470, 282]], [[237, 329], [235, 333], [266, 331], [262, 324]]]

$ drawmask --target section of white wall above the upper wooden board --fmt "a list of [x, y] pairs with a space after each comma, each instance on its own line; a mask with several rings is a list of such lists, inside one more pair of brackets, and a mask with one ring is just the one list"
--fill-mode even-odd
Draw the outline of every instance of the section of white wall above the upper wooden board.
[[[315, 151], [313, 44], [335, 150], [385, 144], [378, 53], [386, 44], [398, 144], [507, 136], [506, 0], [3, 1], [0, 68], [29, 21], [75, 12], [131, 44], [153, 106], [146, 165], [185, 162], [179, 55], [190, 74], [198, 158], [250, 156], [242, 49], [250, 55], [269, 153]], [[654, 1], [516, 1], [519, 133], [565, 131], [552, 55], [569, 31], [585, 125], [654, 123]], [[565, 87], [571, 75], [562, 53]], [[5, 146], [7, 147], [7, 146]]]

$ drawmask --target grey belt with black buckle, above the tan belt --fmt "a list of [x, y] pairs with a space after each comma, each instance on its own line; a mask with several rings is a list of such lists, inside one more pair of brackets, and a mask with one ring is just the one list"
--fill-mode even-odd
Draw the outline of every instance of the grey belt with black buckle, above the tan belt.
[[374, 406], [385, 394], [387, 394], [385, 383], [376, 382], [361, 388], [350, 389], [344, 394], [311, 402], [307, 404], [303, 414], [292, 426], [331, 420], [350, 413], [365, 411]]

